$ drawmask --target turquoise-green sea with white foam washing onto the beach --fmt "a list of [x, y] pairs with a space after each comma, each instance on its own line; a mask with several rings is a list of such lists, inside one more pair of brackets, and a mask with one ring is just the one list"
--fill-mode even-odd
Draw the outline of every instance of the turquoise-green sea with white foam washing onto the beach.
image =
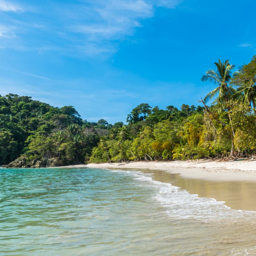
[[256, 255], [256, 212], [90, 168], [0, 169], [0, 255]]

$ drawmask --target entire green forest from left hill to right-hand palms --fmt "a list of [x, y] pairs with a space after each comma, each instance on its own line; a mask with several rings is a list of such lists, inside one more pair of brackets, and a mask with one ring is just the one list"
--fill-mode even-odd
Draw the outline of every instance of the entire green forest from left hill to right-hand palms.
[[[256, 56], [238, 71], [228, 60], [201, 77], [215, 89], [166, 109], [141, 103], [127, 123], [82, 120], [72, 106], [28, 96], [0, 96], [0, 164], [49, 167], [77, 163], [237, 159], [256, 153]], [[213, 102], [212, 102], [213, 100]], [[211, 102], [208, 106], [207, 103]]]

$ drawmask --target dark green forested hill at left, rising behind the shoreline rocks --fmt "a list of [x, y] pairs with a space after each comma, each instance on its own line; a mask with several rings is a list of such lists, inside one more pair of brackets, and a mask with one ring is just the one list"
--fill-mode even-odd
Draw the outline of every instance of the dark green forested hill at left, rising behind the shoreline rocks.
[[17, 167], [83, 163], [106, 128], [83, 121], [72, 106], [55, 108], [28, 96], [0, 96], [0, 164], [20, 156]]

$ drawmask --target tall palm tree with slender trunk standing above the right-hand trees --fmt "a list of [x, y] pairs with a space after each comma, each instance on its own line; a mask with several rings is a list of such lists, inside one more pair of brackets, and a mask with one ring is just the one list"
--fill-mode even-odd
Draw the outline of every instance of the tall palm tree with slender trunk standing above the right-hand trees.
[[[232, 141], [232, 149], [230, 152], [230, 156], [234, 155], [234, 137], [235, 137], [235, 132], [233, 129], [232, 125], [232, 120], [228, 108], [228, 100], [231, 100], [235, 97], [239, 97], [239, 92], [233, 88], [231, 85], [229, 85], [229, 81], [232, 77], [231, 70], [235, 67], [234, 65], [229, 64], [229, 60], [225, 61], [220, 61], [219, 62], [214, 62], [216, 65], [216, 71], [210, 69], [206, 71], [206, 74], [202, 76], [202, 82], [210, 81], [213, 84], [217, 84], [218, 86], [213, 89], [211, 92], [209, 92], [205, 97], [204, 97], [204, 102], [206, 103], [207, 101], [211, 100], [215, 96], [217, 96], [217, 106], [219, 109], [219, 112], [223, 108], [226, 108], [228, 110], [228, 118], [231, 126], [231, 131], [232, 133], [230, 134], [231, 136], [231, 141]], [[237, 148], [238, 151], [240, 152], [240, 149]]]

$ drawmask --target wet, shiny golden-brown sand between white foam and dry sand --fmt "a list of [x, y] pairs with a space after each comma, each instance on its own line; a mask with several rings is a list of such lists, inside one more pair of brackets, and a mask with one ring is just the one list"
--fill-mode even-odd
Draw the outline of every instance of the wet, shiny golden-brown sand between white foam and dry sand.
[[185, 189], [190, 194], [224, 201], [225, 205], [232, 209], [256, 211], [256, 182], [187, 179], [178, 173], [150, 170], [146, 172], [154, 173], [155, 180], [170, 182], [173, 186]]

